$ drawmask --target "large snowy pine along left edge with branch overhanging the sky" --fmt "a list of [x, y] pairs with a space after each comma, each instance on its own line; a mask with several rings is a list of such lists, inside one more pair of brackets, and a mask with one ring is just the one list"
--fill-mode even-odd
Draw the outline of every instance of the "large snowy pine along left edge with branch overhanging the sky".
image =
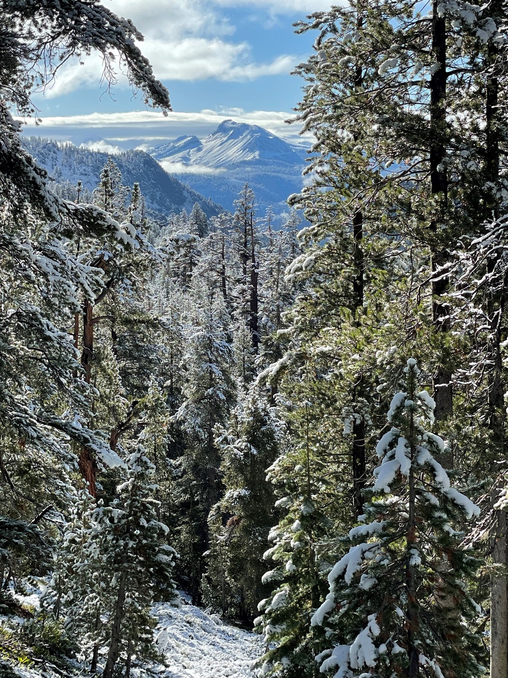
[[[83, 296], [104, 289], [101, 271], [76, 255], [77, 242], [86, 237], [99, 248], [105, 235], [117, 240], [125, 234], [99, 207], [53, 190], [45, 169], [22, 146], [21, 125], [12, 114], [36, 114], [30, 94], [51, 81], [60, 58], [94, 50], [104, 57], [106, 80], [114, 79], [115, 51], [147, 102], [167, 111], [169, 100], [135, 45], [140, 34], [133, 24], [96, 1], [5, 0], [0, 15], [0, 466], [5, 482], [0, 513], [7, 521], [4, 562], [16, 553], [21, 566], [43, 548], [42, 542], [30, 542], [39, 540], [35, 525], [51, 517], [52, 506], [64, 509], [68, 503], [79, 448], [106, 466], [121, 464], [106, 437], [84, 424], [90, 391], [68, 330]], [[7, 527], [9, 516], [19, 521], [17, 527]], [[30, 570], [37, 567], [25, 574]], [[16, 567], [12, 571], [20, 574]]]

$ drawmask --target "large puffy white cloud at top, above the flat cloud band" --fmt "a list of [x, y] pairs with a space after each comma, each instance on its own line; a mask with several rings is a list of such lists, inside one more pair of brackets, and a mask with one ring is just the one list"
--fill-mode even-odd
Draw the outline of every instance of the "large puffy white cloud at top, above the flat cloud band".
[[[276, 56], [269, 63], [255, 63], [251, 47], [245, 41], [228, 39], [234, 26], [222, 16], [221, 7], [246, 5], [284, 13], [316, 8], [309, 0], [110, 0], [108, 8], [115, 14], [132, 18], [144, 34], [140, 44], [154, 73], [161, 80], [198, 81], [215, 78], [222, 81], [253, 80], [265, 75], [290, 73], [302, 59], [288, 54]], [[318, 3], [320, 5], [320, 3]], [[56, 81], [46, 91], [48, 98], [84, 86], [96, 86], [103, 74], [98, 54], [66, 62]], [[119, 86], [127, 81], [121, 76]]]

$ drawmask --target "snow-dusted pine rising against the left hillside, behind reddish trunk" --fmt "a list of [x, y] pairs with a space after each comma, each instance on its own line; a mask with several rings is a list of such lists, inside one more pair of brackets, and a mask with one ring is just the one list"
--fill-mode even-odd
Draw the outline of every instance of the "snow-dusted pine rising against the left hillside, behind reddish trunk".
[[[81, 239], [82, 260], [100, 268], [104, 283], [99, 294], [84, 296], [82, 319], [75, 318], [75, 346], [82, 348], [85, 381], [100, 390], [93, 403], [94, 424], [108, 431], [110, 447], [116, 450], [119, 437], [136, 425], [135, 407], [146, 395], [146, 384], [156, 367], [158, 322], [148, 308], [146, 283], [163, 254], [144, 234], [139, 186], [127, 205], [127, 189], [110, 158], [104, 172], [107, 180], [103, 177], [94, 198], [108, 205], [121, 226], [107, 247]], [[95, 494], [96, 464], [85, 447], [80, 467], [89, 491]]]

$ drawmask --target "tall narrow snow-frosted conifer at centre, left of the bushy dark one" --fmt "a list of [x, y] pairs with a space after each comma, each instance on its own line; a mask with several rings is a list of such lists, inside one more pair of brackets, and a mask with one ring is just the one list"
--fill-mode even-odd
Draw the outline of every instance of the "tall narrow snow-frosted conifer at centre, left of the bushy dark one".
[[209, 287], [206, 278], [194, 278], [180, 361], [184, 401], [174, 422], [184, 434], [184, 453], [176, 462], [176, 500], [182, 512], [176, 535], [178, 570], [196, 600], [205, 569], [203, 553], [209, 545], [207, 517], [222, 488], [214, 430], [226, 425], [235, 398], [229, 322], [220, 290]]

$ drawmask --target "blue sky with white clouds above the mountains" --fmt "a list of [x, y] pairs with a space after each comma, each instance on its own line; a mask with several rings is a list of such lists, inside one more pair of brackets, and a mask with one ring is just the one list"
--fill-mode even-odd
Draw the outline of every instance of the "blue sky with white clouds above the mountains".
[[[132, 18], [144, 33], [140, 47], [168, 87], [175, 114], [169, 119], [147, 114], [123, 78], [113, 99], [104, 94], [101, 62], [92, 55], [84, 65], [66, 64], [54, 86], [37, 96], [43, 118], [37, 134], [72, 140], [100, 136], [125, 148], [150, 138], [200, 136], [232, 117], [296, 137], [295, 125], [290, 129], [283, 122], [300, 98], [301, 81], [289, 73], [311, 52], [314, 35], [295, 35], [292, 24], [329, 7], [326, 0], [103, 3]], [[33, 127], [26, 132], [33, 133]]]

